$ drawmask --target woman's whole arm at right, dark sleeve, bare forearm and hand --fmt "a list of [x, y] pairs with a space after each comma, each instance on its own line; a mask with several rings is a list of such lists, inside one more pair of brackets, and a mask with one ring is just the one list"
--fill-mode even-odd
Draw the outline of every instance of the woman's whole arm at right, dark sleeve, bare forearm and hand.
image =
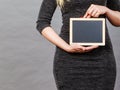
[[105, 14], [114, 26], [120, 26], [120, 2], [119, 0], [107, 0], [106, 6], [92, 4], [84, 17], [99, 17]]

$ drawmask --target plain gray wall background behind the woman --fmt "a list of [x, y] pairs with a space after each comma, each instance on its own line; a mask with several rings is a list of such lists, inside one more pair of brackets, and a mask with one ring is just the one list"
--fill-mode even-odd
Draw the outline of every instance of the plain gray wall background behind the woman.
[[[42, 0], [0, 0], [0, 90], [56, 90], [55, 46], [36, 30]], [[60, 11], [52, 25], [60, 31]], [[120, 88], [120, 28], [108, 24], [117, 62], [115, 90]]]

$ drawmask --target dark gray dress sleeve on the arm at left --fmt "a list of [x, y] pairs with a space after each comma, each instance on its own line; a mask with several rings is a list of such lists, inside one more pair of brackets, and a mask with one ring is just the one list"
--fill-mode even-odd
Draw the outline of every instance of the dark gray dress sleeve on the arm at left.
[[36, 28], [40, 33], [45, 27], [50, 26], [51, 19], [56, 7], [56, 0], [43, 0], [36, 22]]

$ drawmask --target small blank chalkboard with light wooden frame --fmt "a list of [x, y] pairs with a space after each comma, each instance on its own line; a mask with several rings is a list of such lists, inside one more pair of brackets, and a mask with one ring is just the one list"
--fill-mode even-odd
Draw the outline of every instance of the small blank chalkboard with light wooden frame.
[[104, 18], [71, 18], [70, 44], [105, 45]]

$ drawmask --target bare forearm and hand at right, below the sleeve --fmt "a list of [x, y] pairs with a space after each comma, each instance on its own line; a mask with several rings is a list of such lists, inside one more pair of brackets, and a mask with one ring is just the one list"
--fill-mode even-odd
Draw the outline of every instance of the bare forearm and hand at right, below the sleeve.
[[90, 18], [90, 17], [99, 17], [100, 15], [105, 14], [108, 20], [114, 25], [114, 26], [120, 26], [120, 12], [114, 11], [106, 6], [100, 6], [100, 5], [94, 5], [92, 4], [86, 14], [84, 15], [84, 18]]

